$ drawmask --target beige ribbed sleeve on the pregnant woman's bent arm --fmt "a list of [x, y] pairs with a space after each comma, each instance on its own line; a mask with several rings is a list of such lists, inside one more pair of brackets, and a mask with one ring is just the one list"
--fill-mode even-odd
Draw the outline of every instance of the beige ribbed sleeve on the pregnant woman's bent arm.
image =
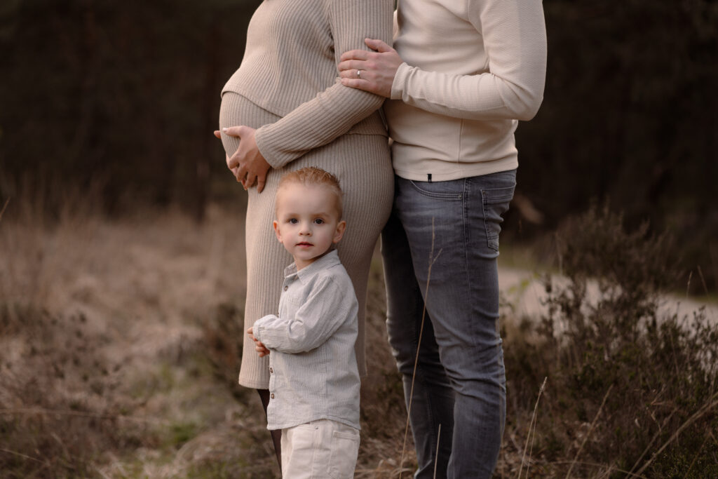
[[[325, 3], [336, 64], [347, 50], [368, 50], [364, 44], [367, 37], [391, 42], [391, 1], [326, 0]], [[257, 147], [272, 167], [283, 167], [309, 150], [345, 134], [376, 111], [383, 100], [372, 93], [345, 87], [337, 75], [330, 88], [302, 103], [276, 123], [258, 129]]]

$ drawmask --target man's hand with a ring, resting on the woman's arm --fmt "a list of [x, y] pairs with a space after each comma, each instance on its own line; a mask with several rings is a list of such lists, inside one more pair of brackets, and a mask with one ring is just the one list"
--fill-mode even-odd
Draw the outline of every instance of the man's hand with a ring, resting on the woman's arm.
[[342, 85], [391, 98], [391, 84], [402, 63], [401, 57], [381, 40], [366, 38], [364, 43], [375, 51], [350, 50], [342, 53], [337, 65]]

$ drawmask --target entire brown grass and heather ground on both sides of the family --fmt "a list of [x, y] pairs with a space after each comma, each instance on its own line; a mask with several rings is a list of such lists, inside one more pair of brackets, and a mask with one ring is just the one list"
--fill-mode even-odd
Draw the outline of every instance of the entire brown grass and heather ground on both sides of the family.
[[[236, 384], [241, 214], [210, 208], [202, 225], [178, 210], [40, 216], [0, 220], [0, 477], [278, 477], [258, 397]], [[653, 325], [653, 285], [621, 295], [655, 272], [638, 259], [622, 261], [645, 275], [613, 287], [607, 274], [598, 304], [584, 301], [570, 267], [564, 289], [546, 280], [547, 315], [504, 300], [508, 419], [496, 477], [718, 475], [718, 332], [700, 312], [703, 339], [671, 329], [685, 318]], [[611, 319], [624, 316], [633, 322]], [[383, 320], [375, 256], [356, 477], [409, 478]]]

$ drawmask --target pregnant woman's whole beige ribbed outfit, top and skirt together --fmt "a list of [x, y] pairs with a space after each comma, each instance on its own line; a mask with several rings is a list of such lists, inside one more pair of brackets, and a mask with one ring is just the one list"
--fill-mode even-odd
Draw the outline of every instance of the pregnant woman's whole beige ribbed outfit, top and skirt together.
[[[383, 98], [338, 83], [337, 63], [346, 50], [366, 50], [366, 37], [391, 42], [392, 5], [391, 0], [265, 0], [251, 19], [242, 64], [223, 88], [220, 108], [220, 128], [258, 129], [258, 148], [272, 166], [264, 191], [248, 190], [245, 328], [276, 314], [284, 267], [292, 262], [271, 225], [279, 178], [306, 166], [326, 169], [344, 191], [347, 232], [337, 250], [359, 300], [361, 374], [368, 271], [391, 209], [393, 171], [377, 111]], [[223, 135], [222, 140], [227, 154], [236, 152], [238, 139]], [[259, 358], [246, 336], [239, 382], [269, 388], [269, 358]]]

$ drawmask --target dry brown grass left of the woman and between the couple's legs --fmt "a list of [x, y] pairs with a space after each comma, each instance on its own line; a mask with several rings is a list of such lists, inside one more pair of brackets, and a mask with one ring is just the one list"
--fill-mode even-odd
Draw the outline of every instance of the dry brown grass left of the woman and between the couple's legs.
[[[242, 214], [0, 222], [1, 477], [276, 477], [266, 420], [236, 384]], [[371, 271], [358, 477], [393, 477], [404, 403]], [[403, 429], [402, 429], [403, 430]], [[396, 457], [396, 459], [392, 459]]]

